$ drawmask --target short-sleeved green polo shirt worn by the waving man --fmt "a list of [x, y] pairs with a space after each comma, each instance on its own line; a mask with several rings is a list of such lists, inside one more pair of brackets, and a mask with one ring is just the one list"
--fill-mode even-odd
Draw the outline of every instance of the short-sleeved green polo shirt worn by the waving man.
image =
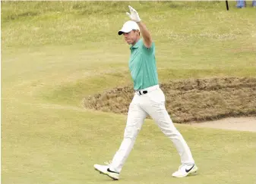
[[134, 81], [134, 89], [145, 89], [158, 84], [156, 71], [155, 44], [146, 48], [143, 39], [131, 46], [129, 69]]

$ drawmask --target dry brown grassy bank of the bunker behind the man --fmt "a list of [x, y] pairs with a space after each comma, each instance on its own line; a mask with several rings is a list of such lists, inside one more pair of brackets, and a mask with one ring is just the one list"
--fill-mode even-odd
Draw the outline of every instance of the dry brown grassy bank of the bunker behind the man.
[[[256, 78], [173, 80], [160, 84], [166, 109], [176, 123], [256, 116]], [[131, 86], [84, 98], [84, 106], [97, 111], [127, 114], [134, 95]]]

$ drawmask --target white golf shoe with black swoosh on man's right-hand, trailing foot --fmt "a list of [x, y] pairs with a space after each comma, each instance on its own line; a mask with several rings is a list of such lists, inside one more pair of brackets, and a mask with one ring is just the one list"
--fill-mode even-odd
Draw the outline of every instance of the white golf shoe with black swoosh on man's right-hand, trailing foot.
[[195, 164], [191, 164], [191, 165], [182, 164], [179, 167], [179, 170], [175, 171], [175, 173], [172, 173], [172, 176], [177, 178], [182, 178], [182, 177], [197, 173], [197, 170], [198, 170], [198, 167]]

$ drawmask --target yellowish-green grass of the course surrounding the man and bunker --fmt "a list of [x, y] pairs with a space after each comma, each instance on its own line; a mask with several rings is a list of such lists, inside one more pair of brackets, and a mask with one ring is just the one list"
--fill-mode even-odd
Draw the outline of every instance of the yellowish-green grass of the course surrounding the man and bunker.
[[[255, 8], [235, 2], [2, 2], [2, 183], [112, 183], [93, 164], [112, 159], [126, 116], [83, 98], [132, 86], [129, 45], [117, 32], [139, 12], [160, 83], [256, 76]], [[179, 154], [146, 120], [119, 183], [252, 184], [256, 133], [177, 125], [198, 176], [172, 178]]]

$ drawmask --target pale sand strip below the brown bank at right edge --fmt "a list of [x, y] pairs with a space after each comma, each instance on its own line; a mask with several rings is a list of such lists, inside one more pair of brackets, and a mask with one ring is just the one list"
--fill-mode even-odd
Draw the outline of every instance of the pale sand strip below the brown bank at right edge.
[[191, 123], [191, 126], [256, 132], [256, 117], [229, 117], [223, 120]]

